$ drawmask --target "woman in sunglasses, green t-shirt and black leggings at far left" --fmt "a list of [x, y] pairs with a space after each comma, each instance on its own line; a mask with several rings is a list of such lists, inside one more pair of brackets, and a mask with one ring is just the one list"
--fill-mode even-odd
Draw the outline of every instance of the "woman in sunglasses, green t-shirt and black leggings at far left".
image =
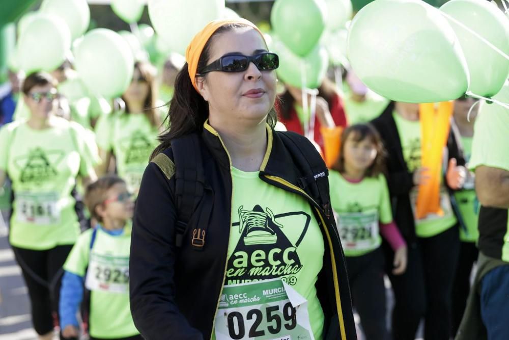
[[22, 92], [30, 118], [0, 130], [0, 186], [12, 180], [9, 242], [21, 267], [40, 339], [53, 338], [62, 265], [79, 235], [76, 178], [95, 180], [84, 129], [56, 117], [56, 81], [37, 72]]

